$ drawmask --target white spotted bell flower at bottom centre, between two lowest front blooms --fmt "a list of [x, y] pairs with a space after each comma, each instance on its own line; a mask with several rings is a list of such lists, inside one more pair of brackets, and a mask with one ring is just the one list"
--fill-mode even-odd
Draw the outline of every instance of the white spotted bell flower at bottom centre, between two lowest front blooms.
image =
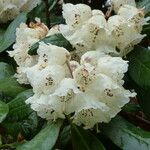
[[60, 82], [59, 87], [50, 95], [50, 101], [54, 109], [61, 111], [63, 114], [69, 115], [76, 110], [78, 103], [78, 95], [81, 91], [78, 89], [74, 79], [65, 78]]

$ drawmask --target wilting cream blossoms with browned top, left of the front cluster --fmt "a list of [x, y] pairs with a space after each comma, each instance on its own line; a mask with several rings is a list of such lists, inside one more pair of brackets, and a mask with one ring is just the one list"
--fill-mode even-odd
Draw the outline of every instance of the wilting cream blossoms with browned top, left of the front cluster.
[[16, 43], [13, 45], [13, 51], [9, 51], [10, 57], [14, 57], [18, 69], [17, 80], [21, 84], [28, 84], [28, 79], [24, 73], [25, 67], [34, 66], [37, 63], [38, 56], [30, 56], [28, 51], [30, 46], [45, 37], [48, 28], [43, 23], [31, 23], [28, 27], [25, 23], [21, 23], [20, 27], [16, 29]]

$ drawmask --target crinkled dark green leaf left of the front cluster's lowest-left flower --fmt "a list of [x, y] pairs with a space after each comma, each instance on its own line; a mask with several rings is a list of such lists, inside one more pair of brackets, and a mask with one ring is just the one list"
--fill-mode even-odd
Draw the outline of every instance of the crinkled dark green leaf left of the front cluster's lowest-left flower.
[[18, 94], [13, 100], [8, 103], [9, 113], [7, 114], [7, 118], [2, 125], [4, 128], [6, 128], [7, 132], [14, 137], [16, 137], [22, 130], [27, 130], [28, 127], [26, 126], [28, 120], [32, 121], [32, 118], [30, 119], [28, 117], [33, 112], [33, 110], [29, 105], [25, 103], [25, 100], [32, 95], [32, 90], [26, 90]]

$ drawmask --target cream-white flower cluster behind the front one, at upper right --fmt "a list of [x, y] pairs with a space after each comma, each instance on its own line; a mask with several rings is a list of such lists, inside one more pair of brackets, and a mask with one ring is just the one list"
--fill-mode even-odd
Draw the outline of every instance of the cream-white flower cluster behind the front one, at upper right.
[[60, 32], [78, 53], [92, 49], [113, 56], [125, 56], [146, 36], [141, 35], [141, 30], [150, 19], [144, 18], [143, 9], [132, 5], [135, 6], [135, 1], [113, 0], [117, 15], [106, 20], [100, 10], [91, 10], [83, 4], [65, 4], [63, 17], [66, 25], [60, 25]]

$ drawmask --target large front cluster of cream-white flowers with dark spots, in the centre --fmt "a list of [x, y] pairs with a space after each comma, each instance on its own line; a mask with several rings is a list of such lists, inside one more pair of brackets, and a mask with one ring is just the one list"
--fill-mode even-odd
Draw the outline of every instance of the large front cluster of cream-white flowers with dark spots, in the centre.
[[40, 43], [37, 64], [25, 69], [34, 95], [26, 100], [47, 120], [72, 116], [77, 125], [92, 128], [109, 122], [135, 93], [123, 88], [128, 64], [120, 57], [89, 51], [81, 61], [51, 44]]

